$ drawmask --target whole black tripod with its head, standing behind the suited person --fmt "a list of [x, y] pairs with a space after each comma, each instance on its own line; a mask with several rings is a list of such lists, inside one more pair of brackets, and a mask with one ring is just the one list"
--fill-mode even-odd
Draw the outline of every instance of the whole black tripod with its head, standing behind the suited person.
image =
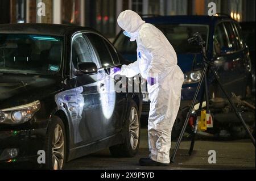
[[[207, 106], [207, 111], [209, 111], [209, 96], [208, 96], [208, 82], [207, 82], [207, 75], [209, 73], [212, 73], [214, 78], [216, 78], [216, 81], [217, 81], [217, 84], [218, 86], [220, 86], [220, 89], [222, 90], [222, 92], [224, 93], [224, 95], [226, 96], [226, 98], [228, 99], [228, 102], [230, 103], [230, 105], [232, 106], [234, 112], [236, 113], [238, 119], [240, 119], [242, 125], [243, 125], [243, 128], [245, 128], [245, 131], [249, 134], [250, 136], [250, 139], [251, 139], [251, 142], [253, 142], [253, 145], [255, 147], [255, 139], [253, 137], [253, 134], [251, 134], [251, 132], [249, 131], [249, 129], [247, 128], [246, 126], [246, 123], [245, 123], [245, 120], [243, 120], [243, 117], [241, 115], [241, 112], [239, 112], [236, 108], [236, 106], [234, 105], [234, 103], [232, 102], [232, 100], [230, 99], [229, 95], [227, 94], [227, 92], [225, 91], [224, 87], [221, 85], [221, 82], [220, 82], [220, 78], [218, 77], [217, 73], [215, 70], [213, 70], [212, 66], [212, 62], [210, 62], [207, 58], [207, 54], [206, 54], [206, 49], [205, 49], [205, 41], [203, 40], [203, 38], [201, 37], [201, 34], [199, 32], [195, 33], [190, 39], [188, 39], [188, 43], [189, 44], [196, 44], [196, 45], [199, 45], [201, 47], [201, 53], [203, 54], [203, 64], [204, 64], [204, 69], [203, 69], [203, 73], [201, 75], [201, 79], [200, 79], [200, 82], [199, 82], [199, 85], [197, 86], [197, 89], [196, 89], [196, 92], [195, 92], [195, 95], [193, 97], [193, 100], [192, 100], [192, 104], [191, 104], [191, 107], [189, 108], [189, 111], [187, 113], [187, 117], [185, 119], [185, 123], [183, 125], [183, 128], [181, 129], [181, 133], [180, 133], [180, 136], [177, 140], [177, 143], [175, 145], [175, 148], [174, 148], [174, 153], [172, 154], [172, 157], [171, 157], [171, 162], [174, 162], [174, 159], [175, 159], [175, 156], [176, 156], [176, 153], [177, 153], [177, 150], [179, 149], [179, 146], [180, 146], [180, 142], [181, 142], [181, 139], [183, 138], [183, 135], [184, 135], [184, 132], [185, 132], [185, 129], [187, 128], [187, 125], [188, 125], [188, 121], [189, 121], [189, 118], [191, 117], [192, 115], [192, 111], [193, 111], [193, 108], [195, 106], [195, 103], [196, 103], [196, 99], [197, 99], [197, 96], [201, 90], [201, 86], [203, 85], [203, 82], [204, 82], [204, 90], [202, 91], [202, 94], [201, 94], [201, 98], [200, 98], [200, 104], [199, 104], [199, 110], [201, 110], [202, 108], [202, 105], [203, 105], [203, 100], [204, 100], [204, 95], [205, 95], [205, 102], [206, 102], [206, 106]], [[207, 112], [209, 113], [209, 112]], [[189, 149], [189, 155], [192, 154], [192, 151], [193, 151], [193, 146], [195, 144], [195, 135], [196, 135], [196, 132], [197, 132], [197, 121], [198, 119], [196, 120], [195, 122], [195, 125], [194, 125], [194, 130], [193, 130], [193, 135], [192, 135], [192, 141], [191, 141], [191, 146], [190, 146], [190, 149]]]

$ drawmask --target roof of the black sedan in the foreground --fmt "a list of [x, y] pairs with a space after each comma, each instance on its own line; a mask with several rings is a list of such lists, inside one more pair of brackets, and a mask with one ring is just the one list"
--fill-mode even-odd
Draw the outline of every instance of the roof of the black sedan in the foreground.
[[64, 36], [77, 31], [95, 31], [92, 28], [64, 24], [20, 23], [0, 24], [0, 33]]

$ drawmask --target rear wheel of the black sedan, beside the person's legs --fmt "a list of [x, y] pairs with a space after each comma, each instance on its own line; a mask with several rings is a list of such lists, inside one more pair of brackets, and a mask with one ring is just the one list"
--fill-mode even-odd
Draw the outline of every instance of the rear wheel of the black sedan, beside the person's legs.
[[134, 157], [138, 152], [141, 138], [141, 123], [138, 106], [134, 100], [131, 100], [129, 112], [129, 117], [127, 117], [124, 127], [125, 141], [123, 144], [114, 145], [109, 148], [110, 153], [114, 157]]

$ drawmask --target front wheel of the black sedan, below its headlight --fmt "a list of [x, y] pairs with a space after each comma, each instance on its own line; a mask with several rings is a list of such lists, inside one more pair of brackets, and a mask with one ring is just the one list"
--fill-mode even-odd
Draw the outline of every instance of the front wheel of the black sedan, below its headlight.
[[61, 170], [66, 158], [66, 135], [63, 121], [53, 116], [46, 136], [46, 164], [44, 169]]

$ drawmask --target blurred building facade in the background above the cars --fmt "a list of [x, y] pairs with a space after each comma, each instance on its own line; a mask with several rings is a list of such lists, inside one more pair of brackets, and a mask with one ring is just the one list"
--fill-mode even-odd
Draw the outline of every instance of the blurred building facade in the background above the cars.
[[255, 21], [254, 0], [5, 0], [0, 23], [56, 23], [88, 26], [114, 37], [117, 16], [126, 9], [141, 15], [207, 15], [209, 2], [217, 12]]

